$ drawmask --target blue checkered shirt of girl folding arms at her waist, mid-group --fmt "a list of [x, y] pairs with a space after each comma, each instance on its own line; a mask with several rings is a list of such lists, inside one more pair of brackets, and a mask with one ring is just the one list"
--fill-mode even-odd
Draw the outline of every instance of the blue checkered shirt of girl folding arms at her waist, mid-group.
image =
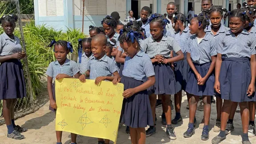
[[150, 36], [140, 44], [140, 47], [150, 58], [153, 58], [156, 55], [162, 55], [165, 58], [170, 58], [172, 50], [175, 53], [181, 50], [176, 40], [165, 35], [160, 42], [156, 42], [153, 37]]

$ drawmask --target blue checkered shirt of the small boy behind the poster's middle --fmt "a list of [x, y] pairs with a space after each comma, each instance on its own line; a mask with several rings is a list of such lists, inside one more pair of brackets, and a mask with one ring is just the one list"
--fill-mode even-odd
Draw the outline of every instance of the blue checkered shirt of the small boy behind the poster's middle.
[[95, 80], [99, 76], [112, 76], [114, 72], [117, 72], [115, 62], [106, 55], [100, 60], [93, 56], [88, 62], [87, 69], [90, 70], [91, 80]]

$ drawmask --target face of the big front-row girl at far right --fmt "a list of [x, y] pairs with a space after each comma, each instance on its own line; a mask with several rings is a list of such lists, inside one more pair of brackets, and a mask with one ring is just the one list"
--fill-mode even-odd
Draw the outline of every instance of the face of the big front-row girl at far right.
[[236, 34], [243, 31], [243, 26], [245, 22], [243, 22], [240, 17], [231, 17], [229, 18], [229, 28], [232, 33]]

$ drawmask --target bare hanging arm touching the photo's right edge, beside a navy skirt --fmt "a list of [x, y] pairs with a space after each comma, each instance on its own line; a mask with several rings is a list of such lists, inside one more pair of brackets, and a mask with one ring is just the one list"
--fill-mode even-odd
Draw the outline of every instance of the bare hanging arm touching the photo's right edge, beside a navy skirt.
[[252, 96], [252, 93], [255, 92], [255, 78], [256, 78], [256, 56], [255, 55], [251, 55], [250, 63], [251, 63], [252, 79], [251, 79], [251, 83], [247, 90], [248, 96]]

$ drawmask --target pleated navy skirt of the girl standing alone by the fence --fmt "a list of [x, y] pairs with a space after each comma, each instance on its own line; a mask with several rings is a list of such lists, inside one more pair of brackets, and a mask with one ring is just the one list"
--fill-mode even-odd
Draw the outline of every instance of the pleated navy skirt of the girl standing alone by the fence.
[[27, 96], [24, 72], [20, 60], [12, 59], [0, 65], [0, 100]]

